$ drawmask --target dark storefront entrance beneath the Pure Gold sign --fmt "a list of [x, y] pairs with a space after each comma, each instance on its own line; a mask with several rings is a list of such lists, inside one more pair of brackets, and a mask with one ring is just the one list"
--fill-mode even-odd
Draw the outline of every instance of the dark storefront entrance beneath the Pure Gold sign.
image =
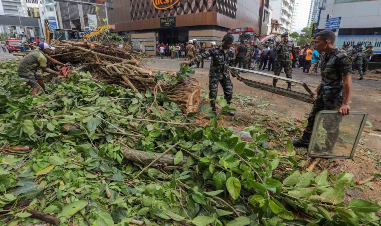
[[159, 43], [176, 44], [188, 41], [189, 29], [188, 28], [160, 28], [159, 30]]

